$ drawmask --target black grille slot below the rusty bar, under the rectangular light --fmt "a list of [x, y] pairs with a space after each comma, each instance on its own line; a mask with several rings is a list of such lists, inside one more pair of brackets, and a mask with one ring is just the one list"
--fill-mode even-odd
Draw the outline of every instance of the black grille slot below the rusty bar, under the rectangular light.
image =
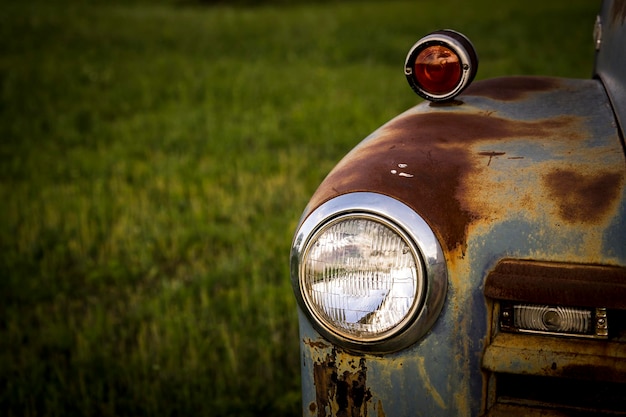
[[626, 415], [626, 383], [498, 374], [498, 403], [569, 410], [575, 415]]

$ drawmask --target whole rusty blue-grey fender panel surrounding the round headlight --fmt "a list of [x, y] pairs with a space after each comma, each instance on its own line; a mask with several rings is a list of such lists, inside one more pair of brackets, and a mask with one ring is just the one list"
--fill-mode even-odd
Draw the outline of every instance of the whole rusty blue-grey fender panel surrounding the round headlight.
[[485, 276], [505, 258], [626, 265], [624, 168], [605, 92], [592, 80], [479, 82], [456, 103], [421, 104], [374, 132], [303, 218], [345, 193], [402, 201], [443, 246], [448, 298], [421, 341], [384, 357], [331, 346], [300, 312], [304, 414], [483, 413]]

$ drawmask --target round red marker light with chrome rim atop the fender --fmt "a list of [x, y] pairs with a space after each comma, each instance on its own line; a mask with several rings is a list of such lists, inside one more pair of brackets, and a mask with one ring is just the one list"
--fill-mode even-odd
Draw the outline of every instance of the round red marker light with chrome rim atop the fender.
[[404, 63], [411, 88], [430, 101], [456, 97], [472, 82], [477, 69], [478, 57], [470, 40], [447, 29], [417, 41]]

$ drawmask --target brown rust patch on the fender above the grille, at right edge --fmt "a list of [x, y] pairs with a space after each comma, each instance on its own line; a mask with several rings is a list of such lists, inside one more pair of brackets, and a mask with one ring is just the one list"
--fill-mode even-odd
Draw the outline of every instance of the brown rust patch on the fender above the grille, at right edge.
[[568, 223], [593, 223], [611, 208], [623, 178], [620, 172], [583, 175], [573, 170], [556, 169], [544, 183], [556, 201], [559, 216]]

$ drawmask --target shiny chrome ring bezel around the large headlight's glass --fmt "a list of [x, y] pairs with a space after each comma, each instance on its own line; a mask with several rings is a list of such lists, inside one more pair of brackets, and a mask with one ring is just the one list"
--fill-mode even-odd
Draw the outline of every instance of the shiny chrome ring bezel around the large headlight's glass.
[[[303, 257], [312, 238], [329, 224], [351, 218], [371, 220], [393, 230], [411, 248], [419, 268], [413, 306], [393, 328], [372, 337], [353, 336], [333, 327], [311, 307], [302, 284]], [[341, 195], [306, 217], [296, 232], [291, 249], [291, 280], [298, 304], [315, 330], [343, 348], [374, 353], [404, 349], [424, 336], [437, 320], [447, 292], [443, 251], [426, 221], [406, 204], [370, 192]]]

